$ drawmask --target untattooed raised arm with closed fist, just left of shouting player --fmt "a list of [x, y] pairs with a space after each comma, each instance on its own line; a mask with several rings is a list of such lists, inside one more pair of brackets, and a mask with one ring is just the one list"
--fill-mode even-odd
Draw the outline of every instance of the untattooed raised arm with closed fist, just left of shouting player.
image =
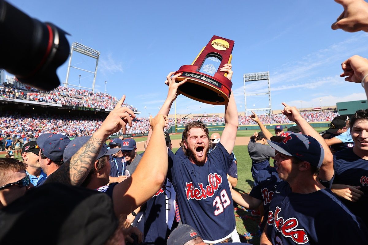
[[127, 180], [117, 184], [113, 190], [114, 210], [117, 215], [128, 215], [141, 206], [162, 187], [168, 169], [168, 156], [163, 129], [169, 119], [157, 115], [151, 121], [151, 141], [139, 161], [137, 169]]

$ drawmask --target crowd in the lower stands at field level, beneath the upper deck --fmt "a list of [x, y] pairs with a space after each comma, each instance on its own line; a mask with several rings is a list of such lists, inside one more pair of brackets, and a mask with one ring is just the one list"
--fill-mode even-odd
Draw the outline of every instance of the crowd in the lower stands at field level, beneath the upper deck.
[[[336, 112], [319, 111], [319, 112], [303, 112], [303, 117], [308, 122], [331, 122], [333, 118], [338, 116]], [[275, 115], [259, 115], [259, 118], [265, 124], [271, 123], [290, 123], [290, 121], [282, 114]], [[249, 117], [239, 116], [240, 125], [254, 125], [255, 122]], [[194, 119], [177, 119], [178, 124], [185, 124], [193, 120], [202, 120], [204, 123], [223, 123], [224, 118], [215, 117], [196, 117]], [[0, 115], [0, 137], [11, 135], [12, 137], [24, 138], [24, 136], [34, 136], [37, 138], [43, 133], [66, 134], [68, 137], [86, 136], [93, 134], [96, 129], [102, 125], [101, 118], [91, 117], [74, 117], [74, 116], [47, 116], [38, 114], [19, 115], [19, 114], [2, 114]], [[169, 118], [168, 130], [174, 126], [175, 119]], [[71, 127], [72, 126], [72, 127]], [[148, 118], [135, 118], [132, 127], [127, 126], [127, 134], [144, 134], [149, 130]], [[121, 133], [121, 132], [120, 132]]]

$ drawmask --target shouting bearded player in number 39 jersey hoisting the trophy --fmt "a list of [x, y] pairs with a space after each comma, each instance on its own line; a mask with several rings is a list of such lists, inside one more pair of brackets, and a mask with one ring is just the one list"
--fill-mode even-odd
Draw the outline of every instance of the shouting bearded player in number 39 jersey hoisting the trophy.
[[[225, 64], [220, 72], [228, 73], [231, 79], [231, 65]], [[172, 102], [177, 97], [177, 89], [186, 79], [176, 83], [181, 74], [174, 72], [167, 76], [169, 92], [160, 114], [168, 115]], [[177, 194], [180, 218], [198, 230], [204, 242], [240, 242], [235, 227], [233, 201], [226, 173], [232, 163], [231, 152], [234, 148], [238, 128], [238, 113], [231, 93], [225, 105], [225, 128], [219, 143], [209, 150], [208, 128], [200, 121], [187, 123], [183, 131], [183, 151], [188, 158], [181, 158], [168, 149], [168, 179], [173, 183]]]

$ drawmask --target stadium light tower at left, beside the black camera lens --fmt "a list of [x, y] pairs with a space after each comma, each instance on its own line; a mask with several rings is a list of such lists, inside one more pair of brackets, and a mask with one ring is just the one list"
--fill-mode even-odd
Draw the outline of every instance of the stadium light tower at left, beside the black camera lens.
[[[93, 71], [88, 71], [88, 70], [85, 70], [85, 69], [82, 69], [82, 68], [78, 68], [76, 66], [71, 66], [70, 64], [71, 64], [71, 59], [72, 59], [72, 56], [73, 56], [73, 51], [84, 54], [84, 55], [87, 55], [87, 56], [92, 57], [92, 58], [95, 58], [96, 59], [95, 71], [94, 72]], [[100, 51], [97, 51], [93, 48], [87, 47], [87, 46], [85, 46], [83, 44], [80, 44], [80, 43], [77, 43], [77, 42], [72, 43], [72, 46], [70, 48], [70, 54], [69, 54], [67, 78], [65, 79], [65, 83], [64, 83], [65, 87], [74, 86], [74, 87], [79, 87], [79, 88], [84, 88], [84, 89], [92, 89], [92, 92], [95, 93], [95, 82], [96, 82], [96, 74], [97, 74], [97, 66], [98, 66], [99, 58], [100, 58]], [[69, 79], [70, 68], [75, 68], [75, 69], [78, 69], [78, 70], [81, 70], [81, 71], [93, 73], [94, 76], [93, 76], [92, 88], [81, 87], [80, 84], [79, 84], [79, 86], [69, 84], [68, 79]]]

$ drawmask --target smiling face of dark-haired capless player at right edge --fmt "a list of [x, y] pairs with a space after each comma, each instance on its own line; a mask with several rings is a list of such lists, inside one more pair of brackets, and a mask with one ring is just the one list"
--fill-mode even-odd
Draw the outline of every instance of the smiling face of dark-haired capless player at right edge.
[[354, 149], [368, 151], [368, 120], [356, 120], [351, 128], [351, 137], [354, 141]]

